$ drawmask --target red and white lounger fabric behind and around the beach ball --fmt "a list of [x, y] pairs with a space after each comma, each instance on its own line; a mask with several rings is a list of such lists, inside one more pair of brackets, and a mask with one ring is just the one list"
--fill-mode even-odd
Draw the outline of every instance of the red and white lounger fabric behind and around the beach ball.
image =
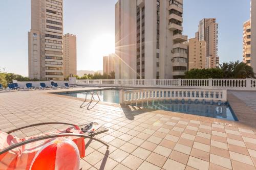
[[[0, 150], [3, 150], [7, 147], [9, 147], [12, 144], [22, 142], [24, 140], [28, 140], [31, 138], [35, 138], [38, 136], [45, 136], [50, 134], [59, 134], [59, 133], [79, 133], [83, 134], [82, 131], [80, 131], [78, 126], [74, 126], [71, 128], [68, 128], [66, 130], [60, 130], [55, 131], [51, 133], [46, 133], [42, 135], [37, 135], [33, 137], [26, 137], [24, 139], [17, 138], [15, 136], [12, 136], [11, 134], [7, 134], [5, 132], [0, 131]], [[77, 145], [77, 148], [79, 150], [80, 158], [83, 158], [85, 156], [85, 144], [84, 144], [84, 138], [82, 137], [58, 137], [59, 140], [67, 138], [73, 140], [75, 144]], [[55, 140], [56, 138], [52, 139], [45, 139], [45, 140], [39, 140], [32, 143], [25, 144], [21, 147], [15, 148], [9, 152], [6, 152], [2, 155], [0, 155], [0, 167], [1, 169], [29, 169], [30, 164], [35, 157], [36, 153], [48, 142], [51, 142]]]

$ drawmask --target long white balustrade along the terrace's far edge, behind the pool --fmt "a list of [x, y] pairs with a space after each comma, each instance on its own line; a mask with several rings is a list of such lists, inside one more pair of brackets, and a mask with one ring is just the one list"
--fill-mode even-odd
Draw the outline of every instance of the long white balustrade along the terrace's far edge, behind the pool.
[[148, 88], [191, 88], [256, 90], [256, 79], [106, 79], [77, 80], [81, 86], [101, 87], [148, 87]]

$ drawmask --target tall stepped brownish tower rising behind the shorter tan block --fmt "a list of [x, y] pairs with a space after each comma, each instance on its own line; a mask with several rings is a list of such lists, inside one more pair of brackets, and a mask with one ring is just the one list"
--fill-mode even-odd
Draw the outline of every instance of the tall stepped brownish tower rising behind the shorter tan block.
[[198, 26], [199, 41], [206, 42], [206, 67], [215, 68], [219, 65], [218, 57], [218, 23], [216, 18], [204, 18]]

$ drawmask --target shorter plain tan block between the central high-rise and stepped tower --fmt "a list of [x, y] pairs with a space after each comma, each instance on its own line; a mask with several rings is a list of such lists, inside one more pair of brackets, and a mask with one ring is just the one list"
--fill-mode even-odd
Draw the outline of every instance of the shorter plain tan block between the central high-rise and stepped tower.
[[195, 37], [190, 38], [188, 44], [188, 70], [206, 68], [206, 42]]

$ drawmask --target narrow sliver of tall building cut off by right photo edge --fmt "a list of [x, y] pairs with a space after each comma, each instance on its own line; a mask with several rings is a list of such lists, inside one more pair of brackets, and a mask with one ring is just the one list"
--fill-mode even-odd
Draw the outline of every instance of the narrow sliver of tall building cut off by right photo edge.
[[251, 0], [251, 67], [256, 72], [256, 0]]

